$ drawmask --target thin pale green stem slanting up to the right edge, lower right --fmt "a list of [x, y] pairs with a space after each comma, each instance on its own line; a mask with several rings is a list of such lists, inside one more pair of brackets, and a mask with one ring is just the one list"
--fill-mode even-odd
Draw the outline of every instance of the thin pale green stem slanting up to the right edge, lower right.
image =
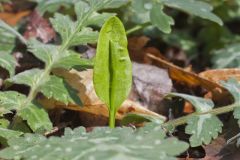
[[172, 127], [177, 127], [180, 125], [183, 125], [185, 123], [187, 123], [188, 119], [192, 116], [200, 116], [200, 115], [205, 115], [205, 114], [213, 114], [213, 115], [219, 115], [219, 114], [223, 114], [223, 113], [227, 113], [227, 112], [231, 112], [234, 110], [235, 107], [239, 107], [239, 104], [234, 103], [231, 105], [227, 105], [224, 107], [219, 107], [219, 108], [215, 108], [212, 109], [211, 111], [208, 112], [203, 112], [203, 113], [193, 113], [191, 115], [187, 115], [187, 116], [183, 116], [174, 120], [170, 120], [166, 123], [163, 124], [163, 126], [172, 126]]

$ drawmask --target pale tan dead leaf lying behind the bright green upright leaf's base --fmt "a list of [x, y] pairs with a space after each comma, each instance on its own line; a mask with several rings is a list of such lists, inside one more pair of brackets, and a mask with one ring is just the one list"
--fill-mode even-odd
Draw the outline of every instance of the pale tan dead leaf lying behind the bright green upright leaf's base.
[[[81, 72], [78, 72], [76, 70], [67, 71], [63, 69], [56, 69], [54, 70], [54, 74], [64, 77], [74, 89], [79, 91], [78, 96], [82, 100], [83, 107], [74, 104], [65, 105], [52, 99], [49, 100], [46, 98], [41, 98], [39, 101], [44, 107], [46, 107], [47, 109], [63, 108], [78, 111], [81, 113], [93, 114], [95, 116], [108, 117], [107, 106], [103, 102], [101, 102], [101, 100], [97, 97], [95, 93], [92, 81], [92, 69]], [[117, 120], [122, 119], [123, 116], [127, 113], [147, 114], [166, 119], [164, 116], [152, 112], [131, 100], [126, 100], [121, 105], [120, 109], [116, 114]]]

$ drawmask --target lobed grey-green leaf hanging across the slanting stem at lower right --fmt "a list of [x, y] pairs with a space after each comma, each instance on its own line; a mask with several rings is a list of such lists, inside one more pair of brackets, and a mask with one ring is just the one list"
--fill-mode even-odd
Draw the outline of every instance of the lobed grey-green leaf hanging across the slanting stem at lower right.
[[[209, 144], [212, 139], [217, 138], [222, 132], [223, 123], [217, 116], [207, 113], [214, 107], [214, 103], [209, 99], [190, 96], [180, 93], [171, 93], [169, 96], [177, 96], [189, 101], [200, 115], [190, 115], [187, 121], [185, 132], [190, 134], [190, 144], [192, 147], [202, 144]], [[201, 113], [204, 113], [201, 115]]]

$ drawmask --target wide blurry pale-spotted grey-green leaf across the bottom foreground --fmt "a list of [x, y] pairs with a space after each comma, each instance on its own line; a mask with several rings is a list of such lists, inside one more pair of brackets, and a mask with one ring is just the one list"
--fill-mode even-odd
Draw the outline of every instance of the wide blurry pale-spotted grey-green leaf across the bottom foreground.
[[92, 132], [86, 132], [83, 127], [67, 128], [62, 137], [47, 139], [25, 134], [24, 137], [10, 139], [8, 144], [9, 147], [0, 151], [0, 158], [175, 160], [175, 156], [188, 148], [185, 142], [166, 138], [161, 127], [153, 124], [136, 131], [126, 127], [96, 127]]

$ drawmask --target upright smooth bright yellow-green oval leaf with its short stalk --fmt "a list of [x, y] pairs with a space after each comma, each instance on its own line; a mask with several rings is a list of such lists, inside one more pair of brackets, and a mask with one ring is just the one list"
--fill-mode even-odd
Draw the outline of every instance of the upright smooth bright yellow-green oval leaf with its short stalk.
[[122, 22], [111, 17], [103, 25], [94, 64], [93, 83], [98, 97], [109, 110], [109, 127], [115, 127], [118, 108], [132, 85], [132, 65]]

